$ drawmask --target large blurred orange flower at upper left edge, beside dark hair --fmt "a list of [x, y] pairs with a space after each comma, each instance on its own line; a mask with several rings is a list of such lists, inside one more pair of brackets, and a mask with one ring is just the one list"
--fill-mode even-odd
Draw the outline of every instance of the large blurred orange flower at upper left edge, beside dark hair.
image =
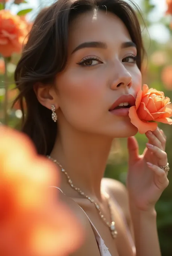
[[28, 25], [20, 16], [8, 10], [0, 11], [0, 53], [10, 57], [13, 52], [20, 53], [28, 34]]

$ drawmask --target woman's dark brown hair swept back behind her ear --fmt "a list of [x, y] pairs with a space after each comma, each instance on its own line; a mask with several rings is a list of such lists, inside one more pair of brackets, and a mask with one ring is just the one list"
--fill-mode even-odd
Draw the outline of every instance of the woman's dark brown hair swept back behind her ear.
[[123, 0], [58, 0], [42, 9], [36, 17], [16, 67], [15, 82], [20, 93], [13, 105], [19, 102], [22, 111], [21, 131], [32, 139], [38, 154], [50, 154], [52, 151], [57, 125], [52, 121], [51, 110], [38, 101], [33, 86], [37, 82], [53, 86], [57, 73], [65, 68], [69, 25], [75, 17], [94, 9], [118, 16], [137, 46], [137, 65], [141, 70], [144, 48], [136, 15], [136, 11], [140, 11], [135, 4], [131, 4], [133, 7]]

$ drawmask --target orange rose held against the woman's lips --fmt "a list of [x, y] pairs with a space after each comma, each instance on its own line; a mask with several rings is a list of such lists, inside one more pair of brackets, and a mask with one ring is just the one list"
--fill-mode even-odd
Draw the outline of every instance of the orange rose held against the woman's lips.
[[138, 128], [139, 133], [146, 133], [148, 130], [155, 131], [157, 123], [161, 122], [172, 125], [172, 110], [168, 108], [170, 99], [164, 96], [163, 92], [143, 85], [136, 97], [136, 105], [130, 107], [129, 117], [131, 123]]

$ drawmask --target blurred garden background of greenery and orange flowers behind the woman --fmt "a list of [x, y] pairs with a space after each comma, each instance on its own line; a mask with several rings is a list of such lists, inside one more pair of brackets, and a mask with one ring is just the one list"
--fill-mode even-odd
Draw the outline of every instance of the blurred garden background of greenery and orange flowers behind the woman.
[[[157, 0], [164, 2], [165, 0]], [[137, 3], [137, 1], [136, 1]], [[46, 5], [46, 1], [40, 1], [40, 6]], [[165, 96], [172, 99], [172, 0], [166, 0], [167, 11], [158, 21], [150, 19], [155, 8], [151, 0], [140, 0], [139, 7], [142, 9], [144, 21], [139, 17], [142, 25], [144, 44], [147, 58], [143, 64], [143, 83], [151, 88], [162, 90]], [[16, 13], [14, 13], [17, 10]], [[30, 8], [24, 0], [0, 0], [0, 122], [18, 129], [21, 120], [19, 104], [11, 109], [12, 101], [17, 95], [14, 89], [13, 74], [24, 42], [32, 28], [32, 19], [28, 18], [30, 12], [37, 12]], [[30, 16], [29, 16], [30, 17]], [[30, 21], [28, 21], [30, 20]], [[163, 25], [168, 31], [169, 39], [159, 42], [152, 39], [148, 30], [157, 23]], [[157, 31], [161, 34], [161, 28]], [[163, 33], [162, 33], [163, 36]], [[172, 103], [170, 104], [172, 108]], [[172, 126], [159, 123], [159, 127], [167, 135], [167, 153], [171, 166], [169, 171], [170, 184], [157, 203], [157, 225], [160, 238], [162, 256], [172, 255]], [[137, 134], [142, 154], [146, 137]], [[0, 141], [1, 143], [1, 141]], [[15, 147], [13, 146], [13, 150]], [[11, 151], [11, 154], [13, 151]], [[118, 179], [125, 183], [127, 172], [127, 147], [126, 139], [116, 140], [109, 157], [105, 176]], [[4, 256], [4, 255], [3, 255]], [[14, 256], [14, 255], [12, 255]]]

